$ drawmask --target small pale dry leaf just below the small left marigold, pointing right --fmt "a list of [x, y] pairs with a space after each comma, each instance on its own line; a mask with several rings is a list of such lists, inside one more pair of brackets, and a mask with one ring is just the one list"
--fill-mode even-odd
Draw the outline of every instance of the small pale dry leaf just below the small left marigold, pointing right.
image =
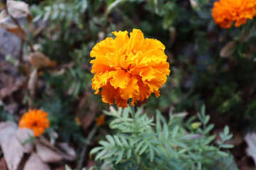
[[52, 149], [36, 143], [36, 152], [43, 162], [59, 162], [63, 157]]

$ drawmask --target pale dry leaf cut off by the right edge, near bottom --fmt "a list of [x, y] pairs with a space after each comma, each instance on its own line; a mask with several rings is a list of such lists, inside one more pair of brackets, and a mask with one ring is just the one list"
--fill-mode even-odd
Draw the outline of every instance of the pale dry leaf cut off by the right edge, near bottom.
[[247, 143], [248, 147], [246, 149], [247, 155], [252, 157], [256, 165], [256, 133], [248, 133], [245, 136], [245, 142]]

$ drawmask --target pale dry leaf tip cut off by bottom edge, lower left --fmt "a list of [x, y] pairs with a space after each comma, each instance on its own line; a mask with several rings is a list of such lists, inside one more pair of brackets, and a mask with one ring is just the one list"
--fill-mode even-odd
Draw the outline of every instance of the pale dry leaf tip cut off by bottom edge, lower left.
[[28, 158], [23, 170], [50, 170], [50, 167], [37, 154], [33, 153]]

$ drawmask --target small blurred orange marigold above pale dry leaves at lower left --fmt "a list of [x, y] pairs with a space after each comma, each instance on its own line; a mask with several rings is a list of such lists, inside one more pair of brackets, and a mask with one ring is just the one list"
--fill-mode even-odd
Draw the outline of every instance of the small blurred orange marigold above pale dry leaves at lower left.
[[50, 123], [47, 118], [48, 113], [42, 110], [29, 110], [25, 113], [20, 122], [20, 128], [29, 128], [33, 130], [34, 136], [38, 137], [43, 134], [46, 128], [49, 128]]

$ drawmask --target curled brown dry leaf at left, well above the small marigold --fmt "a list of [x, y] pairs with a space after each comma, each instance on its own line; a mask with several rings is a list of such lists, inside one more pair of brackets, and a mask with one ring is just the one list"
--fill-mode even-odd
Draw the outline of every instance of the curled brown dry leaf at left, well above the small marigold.
[[41, 52], [31, 52], [29, 55], [29, 62], [33, 64], [37, 69], [45, 67], [54, 67], [56, 62], [50, 60], [46, 55], [43, 55]]

